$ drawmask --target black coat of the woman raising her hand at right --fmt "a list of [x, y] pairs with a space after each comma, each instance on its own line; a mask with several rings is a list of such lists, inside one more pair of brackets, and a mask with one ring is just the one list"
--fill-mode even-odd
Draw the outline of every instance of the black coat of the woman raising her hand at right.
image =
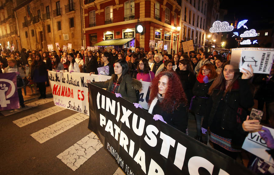
[[[231, 138], [232, 142], [241, 145], [248, 132], [242, 129], [242, 123], [248, 115], [248, 108], [254, 105], [249, 79], [238, 79], [231, 92], [213, 90], [208, 101], [208, 112], [202, 123], [203, 128], [210, 128], [216, 135]], [[239, 147], [240, 148], [240, 147]]]

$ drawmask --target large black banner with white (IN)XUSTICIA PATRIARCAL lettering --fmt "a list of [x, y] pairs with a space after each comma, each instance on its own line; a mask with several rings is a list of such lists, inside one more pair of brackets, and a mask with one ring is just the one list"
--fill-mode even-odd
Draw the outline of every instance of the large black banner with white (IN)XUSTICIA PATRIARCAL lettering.
[[255, 174], [127, 100], [89, 87], [89, 129], [126, 174]]

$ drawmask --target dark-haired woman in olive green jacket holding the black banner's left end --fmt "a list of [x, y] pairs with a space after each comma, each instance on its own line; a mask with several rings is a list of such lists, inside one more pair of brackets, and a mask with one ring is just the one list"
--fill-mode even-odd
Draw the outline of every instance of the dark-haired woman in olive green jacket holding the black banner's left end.
[[137, 101], [135, 88], [132, 86], [133, 80], [128, 75], [128, 64], [125, 60], [115, 61], [114, 74], [111, 79], [105, 82], [91, 82], [90, 80], [87, 82], [100, 88], [107, 88], [107, 91], [114, 93], [116, 97], [122, 97], [132, 103]]

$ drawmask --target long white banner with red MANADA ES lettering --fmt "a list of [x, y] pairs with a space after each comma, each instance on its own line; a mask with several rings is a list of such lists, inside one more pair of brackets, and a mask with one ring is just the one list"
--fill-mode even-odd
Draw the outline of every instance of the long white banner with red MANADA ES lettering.
[[56, 106], [89, 115], [88, 86], [86, 80], [107, 81], [111, 76], [88, 73], [57, 73], [48, 71], [53, 102]]

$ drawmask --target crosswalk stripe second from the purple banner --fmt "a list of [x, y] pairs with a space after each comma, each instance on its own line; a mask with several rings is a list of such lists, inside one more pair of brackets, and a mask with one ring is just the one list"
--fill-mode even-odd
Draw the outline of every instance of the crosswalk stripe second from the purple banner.
[[48, 117], [48, 116], [53, 115], [53, 114], [60, 112], [62, 110], [65, 110], [65, 108], [59, 107], [59, 106], [54, 106], [54, 107], [47, 108], [45, 110], [39, 111], [37, 113], [28, 115], [26, 117], [20, 118], [18, 120], [12, 121], [12, 122], [21, 128], [23, 126], [26, 126], [27, 124], [30, 124], [30, 123], [38, 121], [42, 118]]

